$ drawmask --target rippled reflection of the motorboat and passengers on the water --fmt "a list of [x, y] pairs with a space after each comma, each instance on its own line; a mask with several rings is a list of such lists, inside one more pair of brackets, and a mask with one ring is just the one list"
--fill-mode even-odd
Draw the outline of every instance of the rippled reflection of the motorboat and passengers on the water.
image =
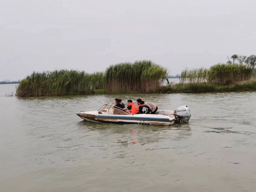
[[[98, 134], [102, 135], [102, 138], [106, 138], [109, 135], [114, 134], [128, 134], [129, 137], [120, 135], [118, 143], [124, 146], [129, 145], [129, 140], [133, 144], [146, 144], [146, 143], [157, 143], [161, 139], [173, 139], [181, 140], [190, 136], [191, 128], [189, 124], [177, 124], [175, 126], [141, 126], [138, 124], [109, 124], [109, 123], [92, 123], [88, 121], [80, 121], [78, 123], [80, 129], [86, 131], [97, 131]], [[123, 139], [126, 139], [125, 141]]]

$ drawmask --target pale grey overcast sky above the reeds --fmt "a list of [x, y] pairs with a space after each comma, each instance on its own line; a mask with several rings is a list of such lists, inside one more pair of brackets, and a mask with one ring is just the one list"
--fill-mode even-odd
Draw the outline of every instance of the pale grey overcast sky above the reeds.
[[151, 60], [180, 74], [256, 54], [255, 0], [1, 0], [0, 81]]

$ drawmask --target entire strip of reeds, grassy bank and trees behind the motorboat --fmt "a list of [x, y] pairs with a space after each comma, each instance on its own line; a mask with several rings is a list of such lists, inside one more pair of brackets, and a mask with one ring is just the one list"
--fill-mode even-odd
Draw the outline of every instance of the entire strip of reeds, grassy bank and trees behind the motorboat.
[[[238, 63], [236, 63], [238, 61]], [[21, 80], [18, 97], [119, 94], [119, 93], [202, 93], [256, 91], [253, 70], [256, 56], [232, 55], [226, 64], [209, 69], [185, 69], [180, 83], [163, 86], [167, 69], [152, 61], [111, 65], [105, 72], [56, 70], [33, 72]]]

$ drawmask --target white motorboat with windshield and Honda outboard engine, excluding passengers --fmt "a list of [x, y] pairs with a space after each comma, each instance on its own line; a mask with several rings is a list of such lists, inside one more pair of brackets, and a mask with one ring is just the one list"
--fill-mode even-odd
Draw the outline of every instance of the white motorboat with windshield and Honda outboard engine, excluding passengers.
[[134, 114], [106, 103], [99, 110], [76, 113], [86, 121], [97, 123], [121, 123], [144, 125], [172, 125], [187, 123], [191, 117], [188, 106], [181, 106], [177, 110], [157, 110], [155, 114]]

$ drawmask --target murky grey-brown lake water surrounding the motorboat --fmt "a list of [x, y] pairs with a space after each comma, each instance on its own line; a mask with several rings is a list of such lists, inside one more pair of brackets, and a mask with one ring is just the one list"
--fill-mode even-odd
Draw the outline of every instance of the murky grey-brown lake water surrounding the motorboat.
[[[15, 85], [0, 85], [0, 95]], [[114, 98], [188, 105], [189, 124], [97, 124]], [[255, 191], [256, 92], [0, 97], [0, 191]]]

